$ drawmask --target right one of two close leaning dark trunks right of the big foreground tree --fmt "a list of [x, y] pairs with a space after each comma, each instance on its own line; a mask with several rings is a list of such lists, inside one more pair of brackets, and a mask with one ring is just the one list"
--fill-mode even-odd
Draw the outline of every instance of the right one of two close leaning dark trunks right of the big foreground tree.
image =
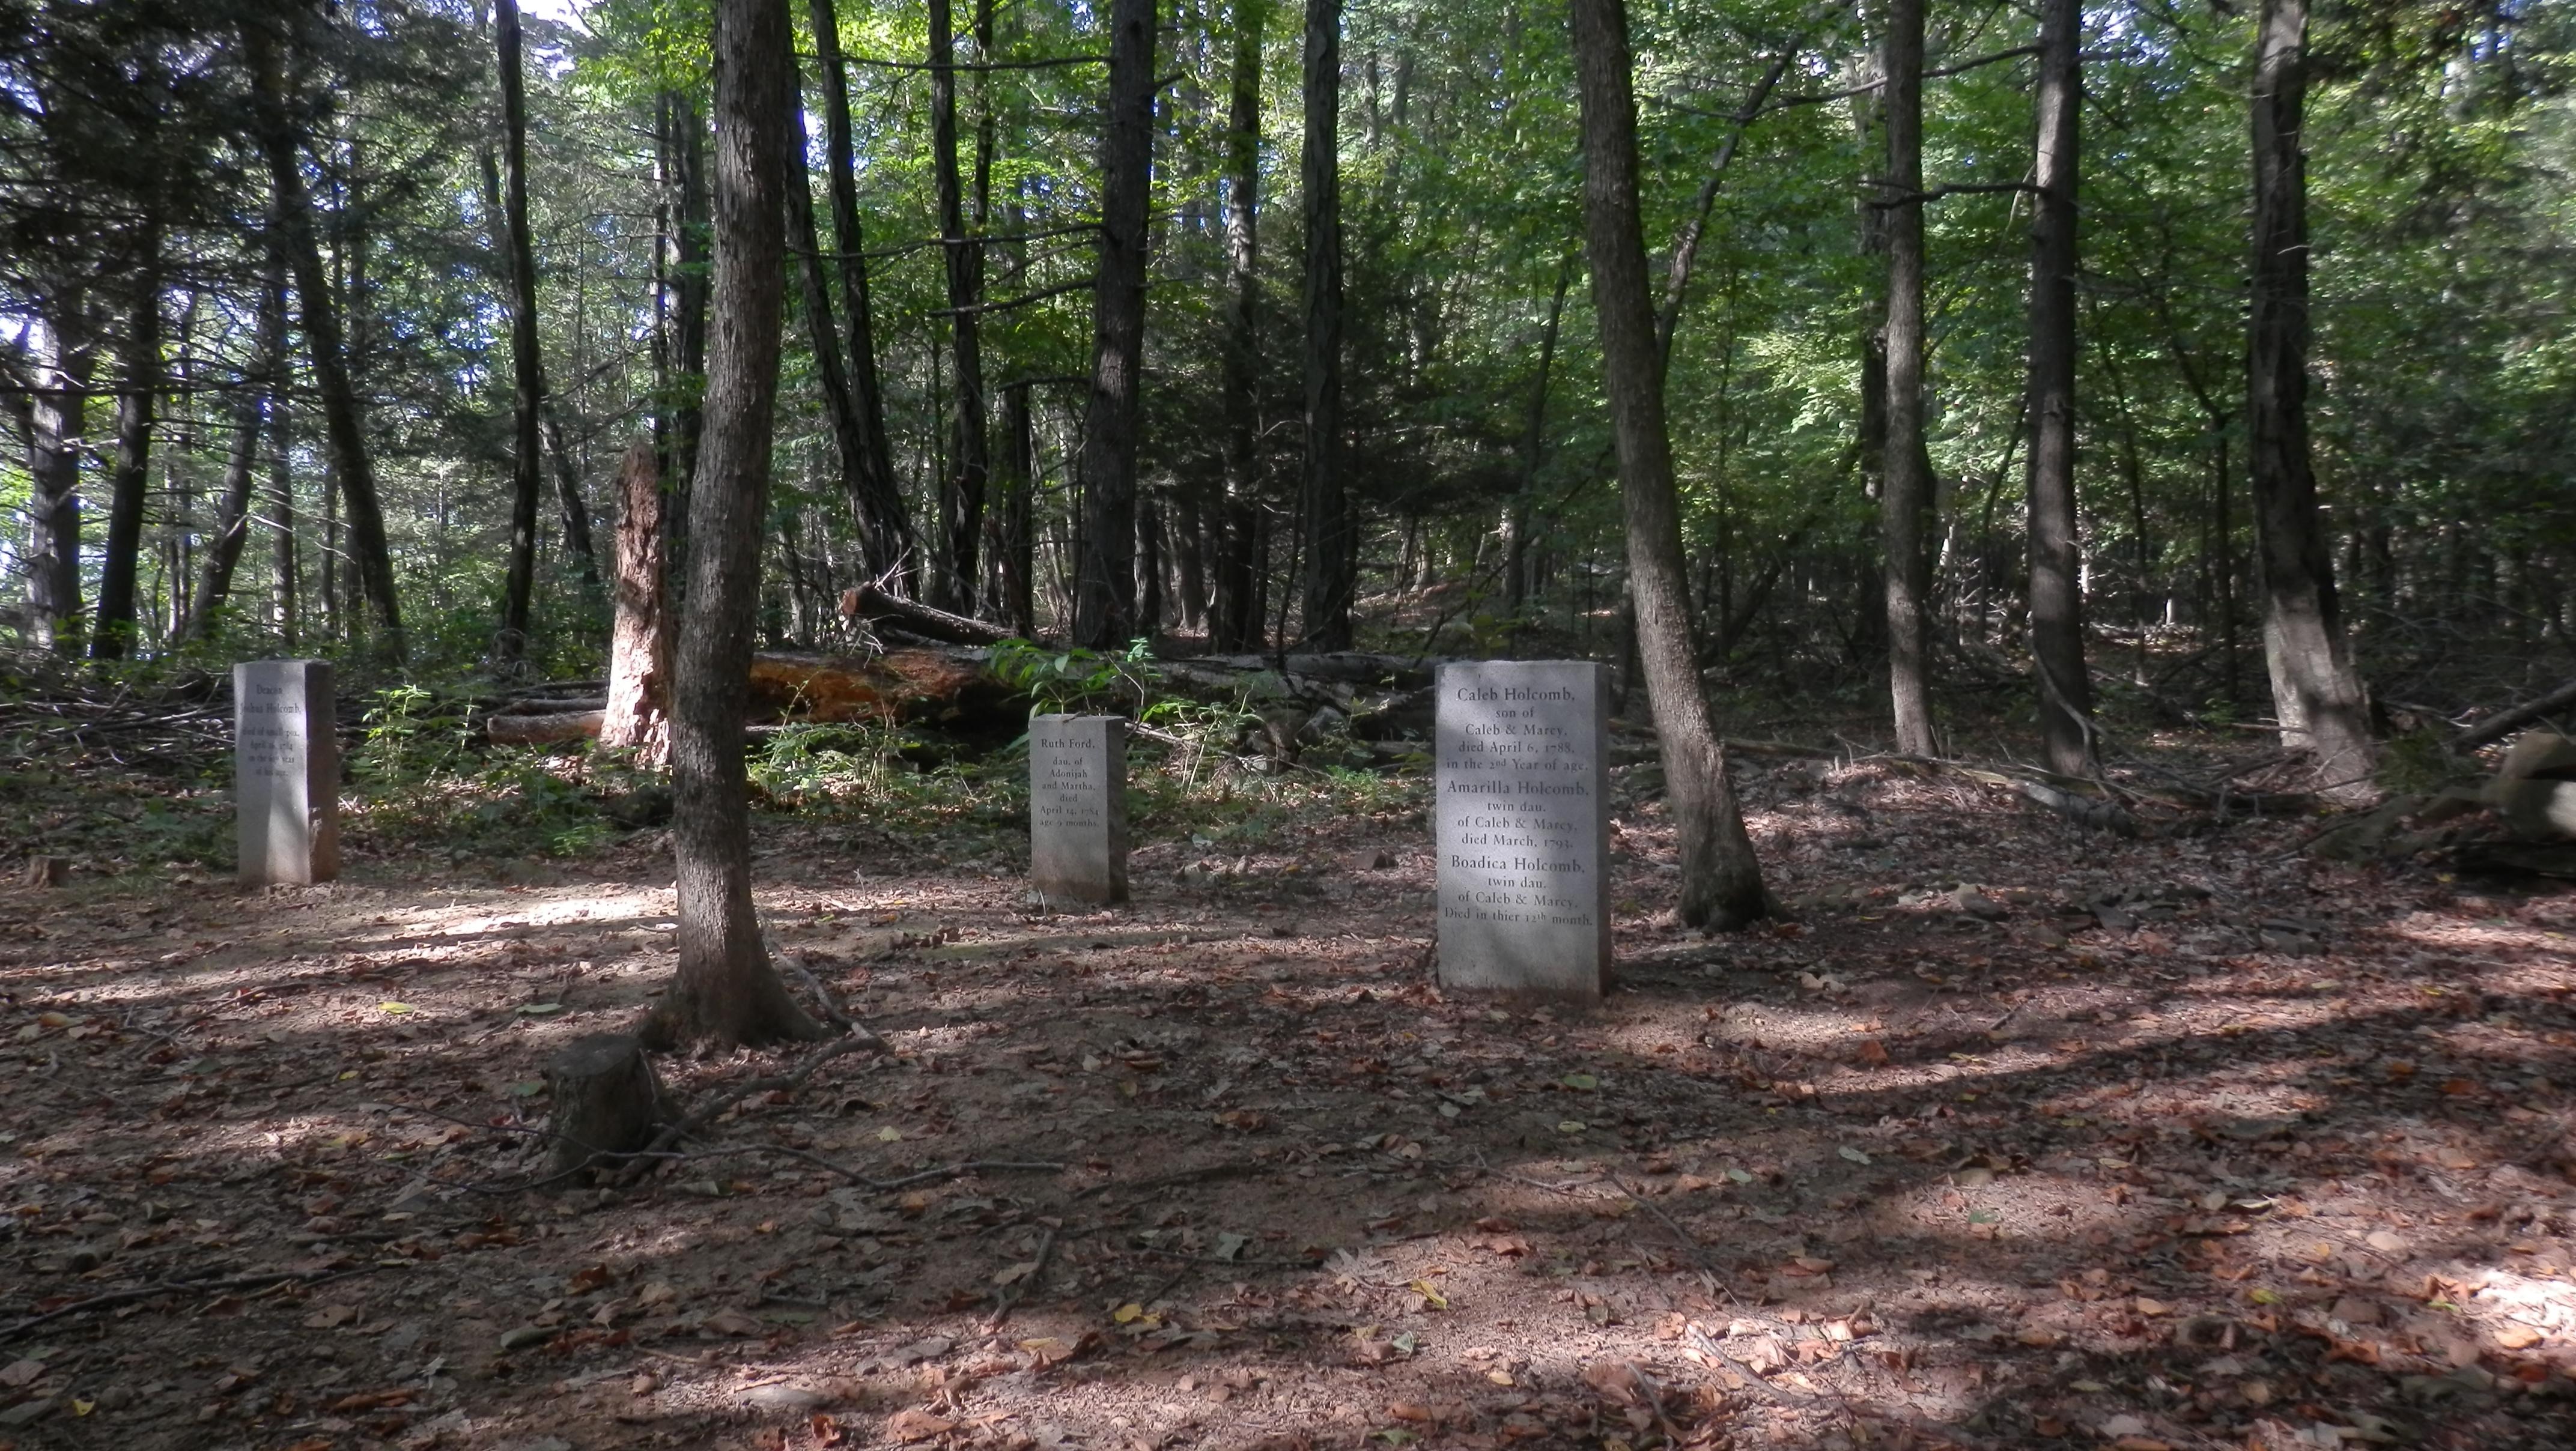
[[876, 322], [868, 302], [868, 242], [858, 227], [858, 162], [850, 142], [850, 67], [840, 54], [840, 18], [832, 0], [809, 0], [814, 59], [822, 70], [822, 157], [832, 193], [832, 245], [840, 253], [840, 307], [850, 327], [848, 379], [858, 423], [858, 456], [842, 469], [860, 531], [868, 575], [899, 590], [912, 564], [912, 518], [894, 482], [894, 446], [886, 441], [886, 394], [876, 379]]

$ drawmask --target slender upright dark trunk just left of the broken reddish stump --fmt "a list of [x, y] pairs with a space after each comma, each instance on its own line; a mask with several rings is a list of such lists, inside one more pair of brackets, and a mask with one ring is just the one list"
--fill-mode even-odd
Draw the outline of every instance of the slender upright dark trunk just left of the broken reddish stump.
[[500, 70], [502, 278], [510, 283], [510, 572], [492, 655], [520, 660], [536, 611], [536, 505], [546, 492], [541, 410], [546, 358], [536, 340], [536, 240], [528, 232], [528, 90], [520, 72], [518, 0], [495, 3]]

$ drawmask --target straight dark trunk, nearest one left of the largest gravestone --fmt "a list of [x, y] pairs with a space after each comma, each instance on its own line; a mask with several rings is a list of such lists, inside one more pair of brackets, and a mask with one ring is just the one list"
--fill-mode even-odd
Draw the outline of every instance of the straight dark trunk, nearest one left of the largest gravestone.
[[1260, 180], [1262, 26], [1270, 0], [1234, 0], [1234, 70], [1226, 85], [1226, 479], [1216, 533], [1211, 649], [1260, 649], [1252, 582], [1260, 549]]

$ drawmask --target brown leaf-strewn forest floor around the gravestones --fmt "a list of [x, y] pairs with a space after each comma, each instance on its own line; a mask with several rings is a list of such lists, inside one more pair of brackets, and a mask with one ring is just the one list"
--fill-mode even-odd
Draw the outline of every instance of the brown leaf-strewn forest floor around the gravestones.
[[1435, 990], [1419, 789], [1095, 915], [765, 817], [894, 1052], [626, 1188], [515, 1186], [657, 832], [10, 889], [0, 1448], [2576, 1443], [2576, 894], [1741, 765], [1798, 920], [1664, 925], [1625, 802], [1597, 1013]]

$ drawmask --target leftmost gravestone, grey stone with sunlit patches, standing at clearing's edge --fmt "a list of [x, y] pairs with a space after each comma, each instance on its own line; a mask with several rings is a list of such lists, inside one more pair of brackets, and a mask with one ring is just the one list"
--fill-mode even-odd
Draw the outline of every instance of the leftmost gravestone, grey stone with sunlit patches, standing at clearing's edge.
[[232, 668], [242, 887], [340, 876], [340, 735], [327, 660]]

